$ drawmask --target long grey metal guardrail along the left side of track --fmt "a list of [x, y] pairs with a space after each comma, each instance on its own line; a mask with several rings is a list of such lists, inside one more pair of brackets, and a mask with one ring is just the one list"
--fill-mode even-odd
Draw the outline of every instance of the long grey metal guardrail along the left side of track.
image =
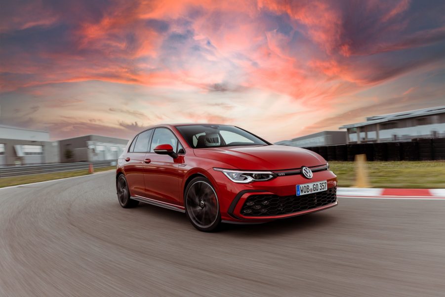
[[74, 171], [88, 169], [92, 164], [94, 168], [115, 166], [117, 160], [105, 160], [105, 161], [92, 161], [92, 162], [76, 162], [76, 163], [55, 163], [44, 165], [22, 165], [12, 167], [0, 167], [0, 177], [27, 175], [27, 174], [39, 174], [39, 173], [51, 173], [62, 171]]

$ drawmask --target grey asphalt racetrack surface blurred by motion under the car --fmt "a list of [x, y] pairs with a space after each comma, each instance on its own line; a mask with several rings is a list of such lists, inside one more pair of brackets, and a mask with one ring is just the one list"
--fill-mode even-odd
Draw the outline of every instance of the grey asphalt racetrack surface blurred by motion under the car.
[[445, 200], [335, 208], [202, 233], [122, 209], [114, 172], [0, 189], [0, 296], [445, 296]]

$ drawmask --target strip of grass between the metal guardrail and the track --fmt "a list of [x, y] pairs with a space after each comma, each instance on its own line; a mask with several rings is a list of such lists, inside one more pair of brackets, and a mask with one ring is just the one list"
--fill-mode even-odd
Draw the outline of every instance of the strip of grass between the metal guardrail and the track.
[[[116, 166], [95, 168], [94, 172], [112, 170], [112, 169], [116, 169]], [[39, 181], [59, 179], [59, 178], [81, 176], [81, 175], [87, 175], [87, 174], [91, 174], [91, 173], [88, 173], [88, 170], [76, 170], [76, 171], [64, 171], [64, 172], [53, 172], [53, 173], [2, 177], [2, 178], [0, 178], [0, 188], [16, 186], [16, 185], [21, 185], [21, 184], [27, 184], [27, 183], [33, 183], [33, 182], [39, 182]]]

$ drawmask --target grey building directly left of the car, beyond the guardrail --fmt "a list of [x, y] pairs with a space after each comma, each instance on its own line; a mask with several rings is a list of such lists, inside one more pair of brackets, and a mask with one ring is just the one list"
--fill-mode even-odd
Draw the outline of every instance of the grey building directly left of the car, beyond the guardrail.
[[85, 135], [59, 141], [60, 160], [66, 162], [117, 160], [128, 139]]

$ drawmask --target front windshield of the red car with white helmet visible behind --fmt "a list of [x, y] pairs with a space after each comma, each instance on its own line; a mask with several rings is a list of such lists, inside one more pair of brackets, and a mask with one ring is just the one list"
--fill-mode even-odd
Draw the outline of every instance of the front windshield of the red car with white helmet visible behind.
[[176, 126], [192, 148], [268, 145], [243, 129], [225, 125]]

